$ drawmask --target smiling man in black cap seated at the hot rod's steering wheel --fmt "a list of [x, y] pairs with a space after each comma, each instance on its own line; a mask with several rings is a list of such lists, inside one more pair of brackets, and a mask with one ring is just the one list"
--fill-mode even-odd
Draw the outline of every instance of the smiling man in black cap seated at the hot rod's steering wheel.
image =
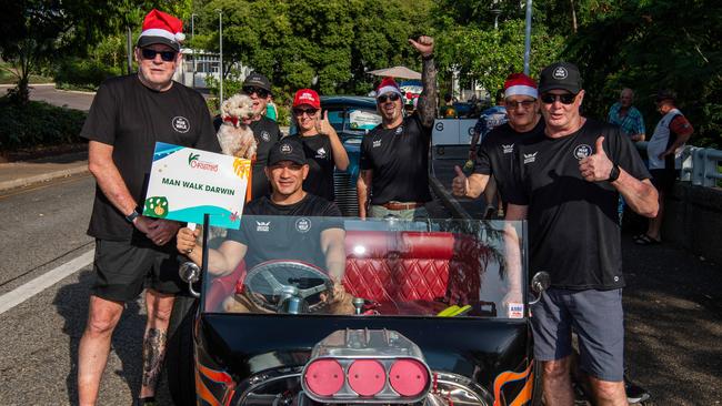
[[[245, 268], [270, 260], [293, 260], [314, 264], [328, 271], [333, 282], [333, 292], [325, 295], [330, 303], [344, 302], [350, 307], [345, 311], [333, 308], [331, 312], [352, 313], [350, 297], [341, 282], [345, 270], [345, 232], [339, 207], [322, 197], [303, 190], [303, 180], [309, 173], [303, 145], [294, 140], [281, 140], [271, 148], [265, 166], [265, 174], [271, 183], [271, 195], [261, 196], [249, 202], [243, 209], [245, 216], [269, 216], [263, 221], [241, 221], [240, 230], [231, 230], [218, 250], [209, 250], [208, 271], [217, 276], [231, 274], [245, 260]], [[279, 221], [288, 216], [289, 221]], [[324, 217], [324, 219], [319, 219]], [[262, 217], [261, 217], [262, 219]], [[303, 226], [299, 227], [299, 222]], [[274, 224], [275, 223], [275, 224]], [[201, 264], [202, 250], [197, 243], [200, 230], [181, 229], [178, 232], [178, 251], [195, 264]], [[283, 257], [280, 257], [282, 253]], [[339, 307], [339, 306], [335, 306]], [[225, 312], [248, 312], [248, 301], [242, 294], [234, 294], [223, 302]]]

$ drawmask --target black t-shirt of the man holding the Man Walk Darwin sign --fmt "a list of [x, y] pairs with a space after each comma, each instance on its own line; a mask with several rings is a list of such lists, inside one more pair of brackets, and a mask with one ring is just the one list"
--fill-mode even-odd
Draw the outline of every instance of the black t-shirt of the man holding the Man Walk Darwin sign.
[[[113, 146], [118, 166], [130, 195], [142, 205], [156, 142], [220, 152], [203, 97], [180, 83], [164, 92], [144, 87], [137, 74], [104, 81], [90, 106], [80, 136]], [[88, 234], [126, 241], [140, 237], [99, 186]]]

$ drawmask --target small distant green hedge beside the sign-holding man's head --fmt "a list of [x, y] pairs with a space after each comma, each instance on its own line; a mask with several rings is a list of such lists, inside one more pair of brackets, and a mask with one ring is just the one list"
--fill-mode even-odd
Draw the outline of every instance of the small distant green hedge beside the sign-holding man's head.
[[108, 67], [92, 59], [68, 58], [58, 64], [56, 87], [58, 89], [96, 90], [100, 83], [122, 74], [120, 68]]

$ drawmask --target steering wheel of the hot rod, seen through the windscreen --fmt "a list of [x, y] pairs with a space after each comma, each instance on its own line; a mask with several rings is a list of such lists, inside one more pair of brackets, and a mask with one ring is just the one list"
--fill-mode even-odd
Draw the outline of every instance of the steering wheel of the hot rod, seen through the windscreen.
[[267, 311], [280, 313], [283, 302], [297, 298], [308, 304], [308, 313], [313, 313], [328, 305], [320, 294], [331, 292], [333, 282], [315, 265], [273, 260], [253, 266], [245, 275], [243, 287], [245, 296]]

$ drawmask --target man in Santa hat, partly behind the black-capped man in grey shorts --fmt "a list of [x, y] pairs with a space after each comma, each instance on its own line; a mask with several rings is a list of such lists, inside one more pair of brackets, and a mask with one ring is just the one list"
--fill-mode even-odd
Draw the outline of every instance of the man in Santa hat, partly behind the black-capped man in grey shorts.
[[485, 219], [491, 217], [489, 207], [493, 210], [497, 190], [501, 200], [505, 201], [504, 190], [515, 181], [514, 145], [544, 131], [544, 121], [539, 113], [539, 91], [533, 79], [523, 73], [510, 74], [504, 81], [501, 95], [507, 122], [495, 126], [483, 138], [474, 156], [474, 173], [467, 177], [463, 171], [455, 166], [457, 177], [451, 184], [451, 191], [457, 196], [477, 199], [483, 192], [488, 207]]

